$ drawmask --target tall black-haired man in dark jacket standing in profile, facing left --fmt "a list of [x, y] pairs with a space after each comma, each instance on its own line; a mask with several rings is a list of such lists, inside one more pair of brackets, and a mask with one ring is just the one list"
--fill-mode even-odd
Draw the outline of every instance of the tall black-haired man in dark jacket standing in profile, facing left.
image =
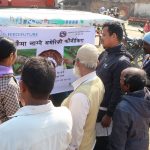
[[[112, 115], [121, 97], [120, 74], [130, 66], [131, 55], [121, 44], [123, 29], [119, 23], [105, 23], [102, 27], [102, 45], [105, 48], [97, 67], [97, 75], [105, 86], [105, 95], [97, 118], [97, 142], [95, 150], [106, 150], [111, 133]], [[109, 129], [110, 128], [110, 129]], [[106, 130], [106, 131], [102, 131]]]

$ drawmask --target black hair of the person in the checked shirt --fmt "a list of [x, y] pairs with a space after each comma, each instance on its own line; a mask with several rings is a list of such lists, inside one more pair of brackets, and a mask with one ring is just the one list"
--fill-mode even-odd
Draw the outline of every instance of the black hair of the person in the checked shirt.
[[15, 43], [6, 37], [0, 37], [0, 61], [6, 59], [11, 53], [15, 52]]

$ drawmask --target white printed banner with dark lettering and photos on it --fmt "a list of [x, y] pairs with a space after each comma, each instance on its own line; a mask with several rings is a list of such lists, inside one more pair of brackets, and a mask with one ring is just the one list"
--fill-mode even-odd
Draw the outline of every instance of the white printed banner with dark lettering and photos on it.
[[92, 27], [0, 27], [0, 36], [9, 37], [17, 44], [18, 58], [13, 66], [16, 76], [21, 67], [32, 56], [48, 58], [56, 66], [56, 80], [52, 94], [72, 90], [75, 77], [73, 65], [64, 63], [73, 60], [78, 48], [95, 42]]

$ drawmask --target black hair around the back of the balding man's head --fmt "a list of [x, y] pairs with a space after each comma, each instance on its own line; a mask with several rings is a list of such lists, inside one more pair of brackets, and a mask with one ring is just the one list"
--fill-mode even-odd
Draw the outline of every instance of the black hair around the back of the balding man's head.
[[127, 73], [124, 76], [124, 83], [125, 85], [129, 85], [130, 92], [142, 90], [146, 85], [146, 74], [143, 75], [140, 73], [137, 74]]

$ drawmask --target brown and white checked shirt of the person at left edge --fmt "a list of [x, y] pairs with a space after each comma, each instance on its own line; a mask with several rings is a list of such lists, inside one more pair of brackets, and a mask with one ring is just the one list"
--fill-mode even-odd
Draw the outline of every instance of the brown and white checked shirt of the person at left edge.
[[19, 86], [13, 75], [0, 77], [0, 123], [19, 109]]

